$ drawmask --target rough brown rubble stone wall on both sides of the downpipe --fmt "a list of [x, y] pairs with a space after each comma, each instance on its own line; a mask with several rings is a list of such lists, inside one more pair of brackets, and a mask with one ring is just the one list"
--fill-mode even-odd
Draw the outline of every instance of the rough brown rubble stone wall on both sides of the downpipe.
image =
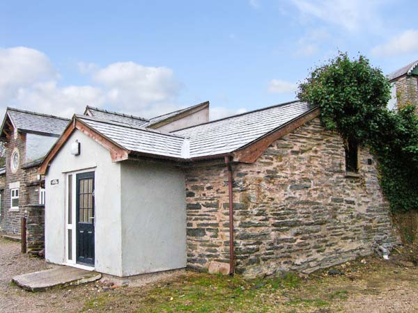
[[[376, 161], [360, 149], [359, 177], [346, 177], [343, 141], [318, 118], [255, 163], [233, 166], [235, 271], [309, 272], [392, 246], [398, 237], [377, 175]], [[189, 168], [186, 177], [188, 266], [226, 265], [226, 168]]]

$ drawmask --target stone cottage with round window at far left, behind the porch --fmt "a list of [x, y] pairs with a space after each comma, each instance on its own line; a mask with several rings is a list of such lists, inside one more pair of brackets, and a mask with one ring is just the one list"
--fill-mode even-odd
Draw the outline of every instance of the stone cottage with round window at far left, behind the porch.
[[43, 248], [44, 179], [38, 174], [42, 158], [70, 120], [53, 115], [7, 108], [0, 140], [6, 147], [1, 195], [0, 229], [20, 234], [22, 216], [27, 216], [28, 252]]

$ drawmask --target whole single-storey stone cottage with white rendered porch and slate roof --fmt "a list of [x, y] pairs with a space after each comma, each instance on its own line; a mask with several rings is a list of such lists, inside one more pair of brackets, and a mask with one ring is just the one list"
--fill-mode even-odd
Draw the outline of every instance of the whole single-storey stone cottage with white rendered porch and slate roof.
[[254, 276], [392, 246], [375, 159], [318, 115], [289, 102], [171, 132], [75, 115], [39, 168], [46, 259], [126, 279]]

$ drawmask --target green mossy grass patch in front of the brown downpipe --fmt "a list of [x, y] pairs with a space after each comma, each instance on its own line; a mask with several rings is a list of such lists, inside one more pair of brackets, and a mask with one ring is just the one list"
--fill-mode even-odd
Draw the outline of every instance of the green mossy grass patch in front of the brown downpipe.
[[329, 295], [325, 295], [327, 299], [293, 297], [302, 284], [302, 279], [295, 273], [244, 280], [240, 275], [189, 272], [176, 281], [147, 291], [127, 287], [116, 293], [102, 294], [89, 300], [84, 310], [118, 311], [134, 307], [137, 312], [277, 312], [278, 307], [283, 307], [283, 311], [290, 312], [295, 306], [330, 305]]

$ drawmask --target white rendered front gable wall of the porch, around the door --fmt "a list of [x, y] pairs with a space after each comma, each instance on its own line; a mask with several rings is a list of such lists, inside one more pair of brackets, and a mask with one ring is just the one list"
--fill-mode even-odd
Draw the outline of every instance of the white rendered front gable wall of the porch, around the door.
[[[71, 154], [76, 139], [79, 156]], [[45, 176], [45, 259], [56, 264], [65, 261], [65, 172], [87, 168], [95, 171], [95, 271], [121, 276], [121, 164], [112, 163], [108, 150], [78, 130]], [[52, 179], [59, 179], [59, 184], [51, 185]]]

